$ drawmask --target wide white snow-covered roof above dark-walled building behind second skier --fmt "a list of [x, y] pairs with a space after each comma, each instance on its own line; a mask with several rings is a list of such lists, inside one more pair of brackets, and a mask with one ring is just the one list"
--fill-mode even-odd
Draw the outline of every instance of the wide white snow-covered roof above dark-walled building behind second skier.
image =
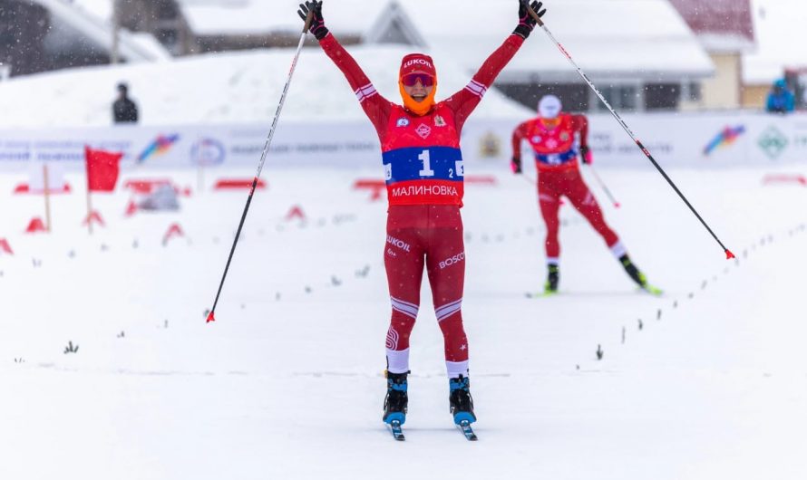
[[[515, 2], [489, 0], [458, 9], [448, 2], [399, 0], [437, 52], [466, 69], [477, 68], [512, 32]], [[472, 4], [475, 5], [475, 4]], [[412, 14], [428, 12], [428, 14]], [[449, 24], [460, 29], [446, 28]], [[580, 67], [604, 78], [680, 80], [713, 72], [712, 62], [684, 20], [666, 0], [566, 0], [552, 2], [547, 27]], [[502, 79], [579, 80], [569, 62], [540, 29], [502, 74]]]

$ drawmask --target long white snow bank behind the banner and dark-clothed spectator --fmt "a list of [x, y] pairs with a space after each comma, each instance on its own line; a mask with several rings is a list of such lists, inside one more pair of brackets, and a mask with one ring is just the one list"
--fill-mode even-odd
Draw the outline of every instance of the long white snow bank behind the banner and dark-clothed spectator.
[[[409, 49], [350, 49], [378, 91], [400, 101], [397, 71]], [[115, 85], [126, 81], [140, 104], [141, 124], [244, 123], [270, 121], [286, 82], [293, 50], [272, 49], [185, 57], [160, 64], [129, 64], [44, 73], [0, 84], [0, 127], [87, 127], [111, 122]], [[470, 75], [445, 58], [438, 99], [447, 98]], [[476, 118], [529, 115], [491, 90]], [[365, 113], [341, 72], [319, 49], [305, 49], [297, 64], [283, 120], [363, 120]]]

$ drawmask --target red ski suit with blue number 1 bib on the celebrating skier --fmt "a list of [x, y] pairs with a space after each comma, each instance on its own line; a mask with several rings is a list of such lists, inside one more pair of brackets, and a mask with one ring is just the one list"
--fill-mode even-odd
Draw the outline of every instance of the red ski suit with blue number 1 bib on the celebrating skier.
[[345, 74], [381, 140], [389, 200], [384, 265], [392, 302], [386, 338], [387, 370], [392, 373], [409, 370], [409, 336], [420, 308], [425, 268], [449, 377], [468, 374], [461, 310], [465, 247], [460, 134], [465, 120], [523, 42], [519, 35], [510, 35], [465, 88], [418, 116], [375, 91], [334, 35], [320, 41]]

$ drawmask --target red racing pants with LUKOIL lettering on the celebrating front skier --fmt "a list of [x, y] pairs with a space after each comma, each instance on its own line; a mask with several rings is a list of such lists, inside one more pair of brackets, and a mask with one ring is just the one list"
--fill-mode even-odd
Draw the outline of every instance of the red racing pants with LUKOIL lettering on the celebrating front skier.
[[420, 308], [423, 269], [432, 287], [450, 378], [468, 375], [462, 328], [465, 246], [459, 206], [390, 206], [384, 266], [393, 313], [386, 336], [387, 370], [409, 371], [409, 336]]

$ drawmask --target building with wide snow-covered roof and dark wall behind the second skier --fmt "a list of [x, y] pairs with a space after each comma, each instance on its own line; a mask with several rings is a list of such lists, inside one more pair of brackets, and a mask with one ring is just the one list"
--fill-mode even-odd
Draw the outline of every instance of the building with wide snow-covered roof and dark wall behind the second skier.
[[[514, 24], [510, 0], [462, 9], [448, 2], [394, 1], [413, 18], [412, 12], [428, 12], [416, 17], [416, 25], [429, 47], [469, 70], [481, 64]], [[619, 110], [676, 110], [683, 86], [714, 72], [704, 48], [666, 0], [565, 0], [548, 8], [547, 27]], [[570, 110], [605, 110], [540, 28], [496, 86], [530, 108], [543, 94], [555, 93]]]

